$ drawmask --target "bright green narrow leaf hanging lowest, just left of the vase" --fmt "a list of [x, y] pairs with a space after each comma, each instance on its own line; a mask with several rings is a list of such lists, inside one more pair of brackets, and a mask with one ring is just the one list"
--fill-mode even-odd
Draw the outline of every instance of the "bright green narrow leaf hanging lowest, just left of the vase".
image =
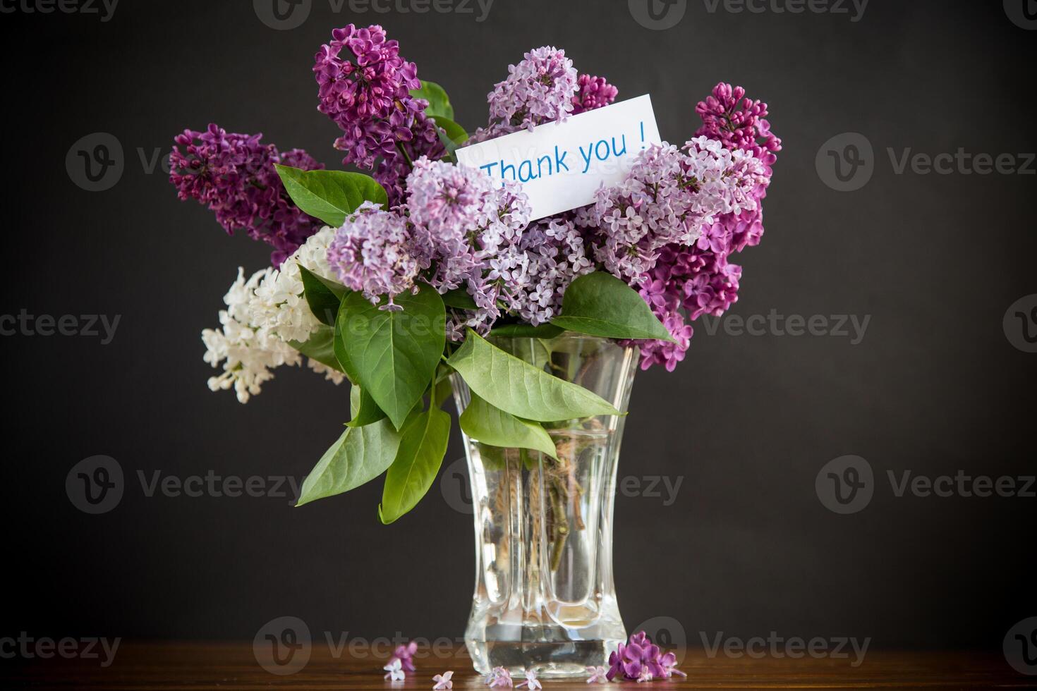
[[429, 408], [410, 419], [400, 435], [396, 459], [386, 473], [379, 518], [383, 523], [414, 509], [432, 486], [450, 438], [450, 415]]

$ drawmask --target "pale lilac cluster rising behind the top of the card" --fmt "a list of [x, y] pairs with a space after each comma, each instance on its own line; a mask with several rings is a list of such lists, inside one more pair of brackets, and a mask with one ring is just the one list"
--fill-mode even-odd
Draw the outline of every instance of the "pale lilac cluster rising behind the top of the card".
[[508, 77], [486, 97], [489, 125], [476, 132], [485, 141], [522, 128], [562, 121], [572, 112], [577, 70], [565, 51], [545, 46], [526, 53], [518, 64], [508, 65]]

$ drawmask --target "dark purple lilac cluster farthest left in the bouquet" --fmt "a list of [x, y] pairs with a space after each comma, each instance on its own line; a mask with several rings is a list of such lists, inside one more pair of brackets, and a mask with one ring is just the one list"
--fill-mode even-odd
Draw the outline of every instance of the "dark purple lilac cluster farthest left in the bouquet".
[[271, 262], [280, 266], [320, 222], [291, 202], [274, 165], [303, 170], [324, 166], [302, 149], [281, 153], [260, 139], [260, 134], [227, 133], [215, 123], [204, 132], [185, 129], [169, 154], [169, 181], [180, 199], [208, 206], [228, 234], [244, 229], [252, 239], [273, 246]]

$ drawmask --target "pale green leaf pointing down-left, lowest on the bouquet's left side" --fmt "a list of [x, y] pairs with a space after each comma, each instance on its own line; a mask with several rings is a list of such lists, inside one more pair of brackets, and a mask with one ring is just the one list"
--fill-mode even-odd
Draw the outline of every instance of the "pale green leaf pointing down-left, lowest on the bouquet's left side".
[[346, 428], [303, 481], [297, 507], [348, 492], [392, 465], [400, 435], [388, 421]]

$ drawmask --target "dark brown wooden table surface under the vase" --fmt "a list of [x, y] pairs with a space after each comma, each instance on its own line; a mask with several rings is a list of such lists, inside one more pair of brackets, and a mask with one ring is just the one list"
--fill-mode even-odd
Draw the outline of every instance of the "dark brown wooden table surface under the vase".
[[[183, 689], [431, 689], [433, 674], [454, 670], [455, 689], [484, 689], [464, 652], [450, 659], [417, 661], [418, 671], [405, 682], [382, 679], [384, 660], [332, 656], [314, 645], [306, 665], [287, 675], [275, 675], [256, 661], [251, 642], [141, 643], [123, 641], [114, 662], [102, 668], [97, 660], [0, 660], [0, 688], [119, 689], [134, 691]], [[661, 680], [650, 685], [624, 682], [623, 688], [1027, 688], [1037, 676], [1015, 672], [996, 653], [868, 651], [864, 662], [832, 659], [708, 658], [689, 651], [681, 668], [686, 680]], [[598, 689], [583, 680], [543, 682], [548, 691]], [[616, 683], [609, 685], [620, 688]]]

